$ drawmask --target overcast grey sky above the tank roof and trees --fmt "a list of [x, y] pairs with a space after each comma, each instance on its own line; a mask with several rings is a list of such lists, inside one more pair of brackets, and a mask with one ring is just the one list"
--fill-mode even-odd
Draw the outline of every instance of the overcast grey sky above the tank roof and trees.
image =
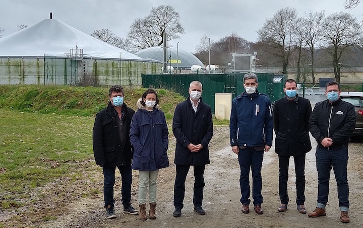
[[[285, 7], [304, 13], [325, 11], [326, 15], [350, 12], [362, 20], [363, 3], [353, 10], [344, 9], [344, 0], [0, 0], [0, 28], [3, 36], [18, 31], [17, 25], [34, 25], [53, 19], [91, 34], [94, 30], [109, 29], [126, 38], [130, 25], [144, 18], [153, 7], [170, 5], [180, 15], [185, 34], [169, 45], [195, 53], [200, 38], [206, 34], [211, 41], [235, 33], [248, 41], [257, 41], [257, 30], [266, 19]], [[1, 50], [0, 50], [1, 54]]]

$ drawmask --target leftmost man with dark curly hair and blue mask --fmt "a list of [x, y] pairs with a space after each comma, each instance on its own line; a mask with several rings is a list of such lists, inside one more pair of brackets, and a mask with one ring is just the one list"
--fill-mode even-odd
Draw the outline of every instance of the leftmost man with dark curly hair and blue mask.
[[135, 111], [124, 103], [124, 88], [113, 86], [108, 91], [107, 108], [96, 115], [93, 126], [93, 154], [96, 164], [103, 169], [104, 207], [106, 217], [115, 218], [113, 186], [115, 170], [118, 168], [122, 177], [122, 203], [124, 212], [138, 214], [131, 205], [131, 158], [133, 147], [130, 143], [130, 124]]

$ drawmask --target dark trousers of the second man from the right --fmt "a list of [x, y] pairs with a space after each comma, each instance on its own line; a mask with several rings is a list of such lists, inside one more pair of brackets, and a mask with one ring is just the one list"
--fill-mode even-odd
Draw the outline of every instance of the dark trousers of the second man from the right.
[[[288, 180], [288, 167], [289, 156], [279, 157], [279, 193], [281, 203], [288, 204], [289, 197], [287, 195], [287, 180]], [[301, 205], [305, 203], [305, 154], [293, 156], [295, 163], [296, 175], [296, 204]]]

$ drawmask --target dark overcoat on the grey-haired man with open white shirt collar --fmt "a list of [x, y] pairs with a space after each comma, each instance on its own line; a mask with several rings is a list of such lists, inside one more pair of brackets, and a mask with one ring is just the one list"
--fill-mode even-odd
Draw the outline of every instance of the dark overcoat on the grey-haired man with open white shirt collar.
[[[208, 144], [213, 136], [212, 111], [202, 98], [194, 112], [190, 97], [179, 103], [174, 112], [172, 130], [176, 138], [176, 165], [203, 166], [209, 164]], [[197, 153], [191, 152], [187, 146], [202, 144], [203, 148]]]

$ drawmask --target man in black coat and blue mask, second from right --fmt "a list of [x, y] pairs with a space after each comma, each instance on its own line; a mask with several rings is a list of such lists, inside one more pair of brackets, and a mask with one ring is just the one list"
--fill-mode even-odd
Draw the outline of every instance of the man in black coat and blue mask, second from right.
[[311, 149], [309, 137], [309, 118], [312, 112], [308, 99], [297, 95], [297, 85], [288, 79], [284, 86], [286, 96], [273, 105], [275, 152], [279, 158], [279, 212], [287, 209], [288, 166], [290, 156], [295, 162], [297, 210], [306, 214], [305, 203], [305, 154]]

